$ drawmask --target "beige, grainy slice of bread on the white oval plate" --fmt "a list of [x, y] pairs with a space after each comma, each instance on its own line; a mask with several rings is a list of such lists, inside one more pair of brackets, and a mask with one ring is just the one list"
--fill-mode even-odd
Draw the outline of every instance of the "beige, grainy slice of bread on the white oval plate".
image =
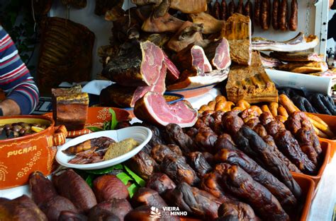
[[139, 143], [135, 141], [133, 138], [127, 138], [121, 142], [111, 143], [108, 146], [105, 155], [103, 156], [103, 160], [111, 160], [113, 158], [124, 155], [125, 153], [128, 153], [128, 151], [132, 150], [138, 145]]

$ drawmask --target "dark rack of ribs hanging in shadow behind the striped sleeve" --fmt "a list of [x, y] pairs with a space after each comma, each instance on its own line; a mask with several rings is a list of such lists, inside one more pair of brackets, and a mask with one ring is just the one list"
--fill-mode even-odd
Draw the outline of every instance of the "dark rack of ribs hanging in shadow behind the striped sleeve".
[[50, 92], [63, 81], [90, 79], [94, 33], [84, 25], [63, 18], [46, 18], [38, 60], [38, 88]]

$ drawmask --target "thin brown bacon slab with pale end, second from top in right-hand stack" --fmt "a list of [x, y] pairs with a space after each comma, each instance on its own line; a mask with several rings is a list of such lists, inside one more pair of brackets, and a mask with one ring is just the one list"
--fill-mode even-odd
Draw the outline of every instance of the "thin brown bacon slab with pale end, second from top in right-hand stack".
[[281, 61], [323, 61], [323, 56], [315, 52], [271, 52], [269, 56]]

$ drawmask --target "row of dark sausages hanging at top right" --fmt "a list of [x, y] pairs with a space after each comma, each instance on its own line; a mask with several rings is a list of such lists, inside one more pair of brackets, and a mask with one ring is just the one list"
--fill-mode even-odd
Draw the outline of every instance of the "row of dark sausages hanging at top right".
[[[228, 4], [225, 0], [219, 3], [215, 1], [213, 6], [208, 4], [208, 12], [219, 20], [227, 20], [233, 13], [240, 13], [249, 16], [253, 25], [260, 26], [263, 30], [269, 30], [270, 25], [274, 30], [296, 31], [298, 28], [298, 1], [292, 0], [289, 10], [289, 0], [250, 0], [244, 5], [243, 0], [239, 0], [237, 6], [234, 0]], [[254, 12], [254, 13], [253, 13]]]

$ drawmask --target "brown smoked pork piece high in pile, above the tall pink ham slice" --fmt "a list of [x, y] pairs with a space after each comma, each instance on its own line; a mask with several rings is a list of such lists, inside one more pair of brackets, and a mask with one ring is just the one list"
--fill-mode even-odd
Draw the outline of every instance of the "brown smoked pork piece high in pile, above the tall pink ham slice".
[[142, 24], [141, 29], [145, 32], [177, 32], [181, 25], [183, 25], [184, 20], [179, 20], [179, 18], [175, 18], [174, 16], [166, 13], [162, 17], [150, 16], [147, 18], [145, 22]]

